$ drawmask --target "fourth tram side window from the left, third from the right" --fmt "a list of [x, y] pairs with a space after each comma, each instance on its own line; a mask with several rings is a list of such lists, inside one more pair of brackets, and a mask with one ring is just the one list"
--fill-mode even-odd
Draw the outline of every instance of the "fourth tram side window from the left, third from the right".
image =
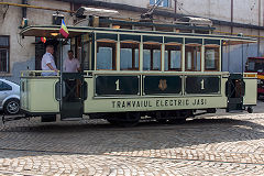
[[182, 45], [165, 46], [165, 70], [180, 70]]

